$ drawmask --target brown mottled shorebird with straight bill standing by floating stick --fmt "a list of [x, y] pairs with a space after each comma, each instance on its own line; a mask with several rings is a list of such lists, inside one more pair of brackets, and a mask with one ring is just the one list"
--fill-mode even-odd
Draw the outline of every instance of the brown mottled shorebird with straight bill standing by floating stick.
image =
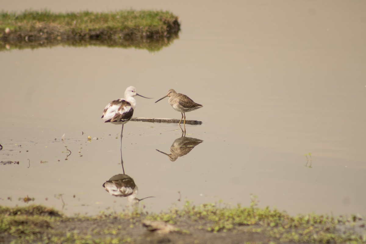
[[[170, 89], [168, 91], [168, 94], [165, 97], [160, 98], [158, 101], [166, 97], [169, 97], [168, 102], [173, 107], [173, 109], [182, 113], [182, 119], [184, 114], [184, 125], [186, 124], [186, 112], [191, 112], [193, 110], [203, 107], [203, 105], [195, 103], [187, 95], [184, 95], [182, 93], [176, 93], [176, 91], [173, 89]], [[158, 101], [156, 101], [155, 103], [157, 103]], [[180, 124], [180, 122], [182, 122], [182, 119], [180, 119], [178, 125]]]

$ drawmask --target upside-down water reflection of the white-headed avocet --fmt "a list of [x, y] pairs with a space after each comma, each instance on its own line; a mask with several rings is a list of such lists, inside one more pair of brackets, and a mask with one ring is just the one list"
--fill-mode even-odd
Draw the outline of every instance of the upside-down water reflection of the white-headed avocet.
[[[105, 181], [103, 187], [112, 196], [127, 198], [128, 203], [137, 205], [141, 200], [136, 198], [138, 194], [138, 187], [135, 184], [134, 179], [132, 179], [127, 174], [116, 174], [112, 176], [111, 179]], [[153, 198], [153, 196], [148, 196], [147, 198]]]

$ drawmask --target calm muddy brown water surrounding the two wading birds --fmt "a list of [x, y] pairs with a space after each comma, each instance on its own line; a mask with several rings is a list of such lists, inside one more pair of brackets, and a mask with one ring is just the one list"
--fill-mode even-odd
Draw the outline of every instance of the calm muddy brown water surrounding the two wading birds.
[[366, 214], [366, 2], [60, 3], [0, 8], [163, 9], [179, 16], [182, 31], [156, 53], [62, 46], [0, 53], [0, 161], [19, 161], [0, 165], [0, 204], [25, 205], [18, 198], [28, 195], [62, 209], [63, 194], [66, 214], [122, 211], [127, 200], [102, 187], [122, 173], [121, 127], [100, 117], [132, 85], [154, 98], [136, 97], [135, 117], [180, 119], [167, 98], [154, 104], [169, 89], [203, 105], [186, 113], [203, 122], [186, 125], [186, 137], [203, 142], [173, 162], [157, 150], [170, 153], [181, 137], [176, 124], [124, 126], [125, 172], [138, 198], [155, 196], [140, 202], [147, 211], [186, 199], [249, 206], [254, 194], [259, 206], [290, 214]]

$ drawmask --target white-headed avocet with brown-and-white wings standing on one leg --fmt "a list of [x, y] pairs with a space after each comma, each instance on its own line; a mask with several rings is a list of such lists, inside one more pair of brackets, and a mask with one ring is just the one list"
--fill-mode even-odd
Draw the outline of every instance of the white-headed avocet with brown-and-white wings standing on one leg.
[[[113, 100], [107, 106], [105, 106], [102, 119], [105, 123], [110, 122], [112, 124], [122, 124], [121, 130], [121, 150], [122, 150], [122, 132], [123, 125], [126, 124], [132, 118], [134, 109], [136, 107], [135, 96], [144, 97], [136, 93], [136, 88], [133, 86], [127, 87], [124, 92], [124, 98]], [[149, 98], [149, 97], [144, 97]], [[151, 99], [151, 98], [149, 98]]]

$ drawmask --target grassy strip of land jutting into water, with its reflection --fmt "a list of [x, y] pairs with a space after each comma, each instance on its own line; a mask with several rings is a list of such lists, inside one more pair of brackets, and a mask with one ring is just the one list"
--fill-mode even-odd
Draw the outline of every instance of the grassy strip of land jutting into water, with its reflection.
[[158, 45], [160, 48], [167, 45], [178, 37], [179, 31], [178, 17], [168, 11], [0, 12], [0, 50], [34, 48], [30, 43], [50, 46], [60, 42], [159, 50]]

